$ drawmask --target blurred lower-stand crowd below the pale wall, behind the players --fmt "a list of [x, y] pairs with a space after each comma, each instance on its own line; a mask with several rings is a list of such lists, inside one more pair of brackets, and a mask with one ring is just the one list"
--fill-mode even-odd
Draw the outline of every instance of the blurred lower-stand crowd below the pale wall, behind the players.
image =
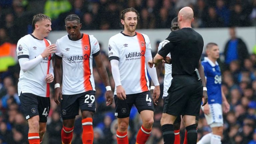
[[[222, 70], [222, 88], [230, 103], [231, 109], [224, 117], [223, 144], [255, 144], [256, 143], [256, 55], [250, 54], [241, 38], [236, 37], [234, 28], [230, 28], [230, 40], [227, 40], [225, 53], [218, 63]], [[236, 45], [231, 42], [238, 41]], [[152, 47], [157, 47], [152, 45]], [[100, 44], [100, 47], [101, 44]], [[231, 47], [233, 48], [230, 51]], [[230, 57], [233, 51], [241, 51], [235, 57]], [[110, 84], [114, 89], [114, 80], [107, 53], [101, 50], [102, 60], [106, 66]], [[153, 55], [155, 52], [153, 52]], [[203, 59], [204, 56], [202, 56]], [[53, 59], [54, 61], [54, 59]], [[93, 63], [93, 76], [96, 85], [96, 113], [93, 117], [94, 144], [116, 144], [117, 118], [114, 116], [115, 104], [105, 105], [105, 86]], [[17, 94], [19, 78], [19, 64], [8, 67], [7, 71], [0, 72], [0, 144], [26, 144], [28, 125], [20, 111], [20, 101]], [[160, 119], [162, 115], [163, 79], [164, 70], [160, 73], [159, 82], [161, 95], [158, 105], [155, 106], [154, 124], [147, 144], [162, 144]], [[51, 84], [51, 109], [47, 122], [47, 131], [43, 144], [56, 144], [61, 142], [62, 119], [60, 107], [54, 102], [53, 84]], [[142, 124], [141, 117], [136, 107], [131, 110], [128, 137], [129, 143], [136, 142], [137, 131]], [[82, 143], [81, 140], [81, 114], [76, 117], [73, 142]], [[198, 124], [198, 140], [211, 132], [204, 114], [200, 112]], [[181, 124], [181, 142], [184, 139], [185, 128]]]

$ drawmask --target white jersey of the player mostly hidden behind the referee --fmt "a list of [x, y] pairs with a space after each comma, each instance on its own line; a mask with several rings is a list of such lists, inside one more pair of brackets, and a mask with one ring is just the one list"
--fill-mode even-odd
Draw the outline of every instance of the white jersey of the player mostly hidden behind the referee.
[[[163, 47], [163, 45], [165, 45], [166, 40], [162, 41], [159, 46], [158, 46], [158, 51], [160, 51]], [[169, 53], [167, 55], [167, 57], [171, 58], [171, 54]], [[168, 89], [171, 86], [171, 81], [172, 81], [172, 65], [171, 64], [164, 64], [164, 70], [165, 70], [165, 74], [164, 74], [164, 91], [163, 91], [163, 97], [166, 97], [168, 95]]]

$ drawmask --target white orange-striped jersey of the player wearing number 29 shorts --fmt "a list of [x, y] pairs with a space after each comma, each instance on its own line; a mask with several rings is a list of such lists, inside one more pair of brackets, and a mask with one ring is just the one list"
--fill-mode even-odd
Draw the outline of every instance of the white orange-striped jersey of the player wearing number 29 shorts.
[[99, 43], [93, 35], [82, 34], [72, 41], [68, 35], [56, 42], [56, 57], [62, 58], [62, 94], [79, 94], [95, 90], [92, 57], [100, 54]]

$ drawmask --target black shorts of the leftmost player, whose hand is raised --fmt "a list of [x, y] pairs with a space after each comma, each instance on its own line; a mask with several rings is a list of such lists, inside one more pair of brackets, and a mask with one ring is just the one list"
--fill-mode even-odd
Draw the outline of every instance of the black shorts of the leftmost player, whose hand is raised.
[[50, 110], [50, 97], [37, 96], [32, 93], [22, 93], [19, 96], [22, 112], [26, 119], [39, 115], [39, 122], [47, 122]]

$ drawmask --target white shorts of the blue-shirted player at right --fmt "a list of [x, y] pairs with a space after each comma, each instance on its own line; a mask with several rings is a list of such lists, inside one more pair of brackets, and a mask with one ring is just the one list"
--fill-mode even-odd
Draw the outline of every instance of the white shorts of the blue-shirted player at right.
[[[219, 103], [209, 104], [210, 113], [208, 115], [204, 114], [207, 124], [210, 127], [220, 127], [223, 126], [223, 116], [222, 116], [222, 106]], [[204, 107], [201, 106], [204, 111]]]

